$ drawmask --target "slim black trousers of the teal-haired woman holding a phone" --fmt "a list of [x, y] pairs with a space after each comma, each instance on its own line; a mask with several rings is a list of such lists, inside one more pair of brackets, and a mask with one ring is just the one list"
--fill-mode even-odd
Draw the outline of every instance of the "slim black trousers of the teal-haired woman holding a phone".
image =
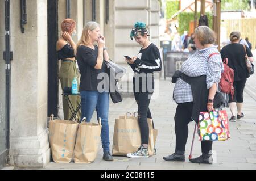
[[[148, 89], [148, 77], [144, 79], [144, 81], [139, 81], [139, 84], [136, 85], [135, 78], [133, 79], [133, 92], [135, 100], [138, 104], [138, 121], [139, 121], [139, 129], [141, 131], [141, 144], [148, 144], [148, 134], [149, 128], [147, 123], [147, 118], [152, 119], [151, 112], [149, 109], [149, 104], [151, 100], [151, 96], [154, 92], [154, 82], [151, 82], [151, 90]], [[135, 86], [139, 86], [139, 89], [136, 89]], [[143, 91], [143, 89], [145, 91]], [[153, 128], [154, 122], [152, 122]]]

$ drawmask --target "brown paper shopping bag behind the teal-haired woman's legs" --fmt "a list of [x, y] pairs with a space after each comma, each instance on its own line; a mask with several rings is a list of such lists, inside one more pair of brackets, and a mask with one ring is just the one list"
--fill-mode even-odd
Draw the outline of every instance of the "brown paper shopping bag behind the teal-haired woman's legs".
[[136, 151], [141, 146], [141, 132], [138, 119], [133, 116], [120, 116], [115, 119], [113, 136], [113, 155], [124, 156]]

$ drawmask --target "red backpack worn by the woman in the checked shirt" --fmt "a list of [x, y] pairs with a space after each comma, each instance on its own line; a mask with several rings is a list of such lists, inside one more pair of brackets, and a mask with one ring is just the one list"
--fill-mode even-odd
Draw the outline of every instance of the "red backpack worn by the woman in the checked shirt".
[[[214, 54], [218, 54], [218, 53], [210, 54], [209, 58]], [[231, 94], [232, 100], [233, 100], [234, 70], [228, 66], [228, 58], [225, 58], [223, 60], [223, 65], [224, 65], [224, 71], [221, 73], [221, 79], [220, 79], [220, 83], [218, 83], [218, 86], [220, 86], [221, 92]]]

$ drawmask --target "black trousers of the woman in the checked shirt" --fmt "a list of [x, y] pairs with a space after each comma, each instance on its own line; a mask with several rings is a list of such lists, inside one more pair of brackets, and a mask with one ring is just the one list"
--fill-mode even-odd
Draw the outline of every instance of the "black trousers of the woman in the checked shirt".
[[[176, 148], [185, 151], [185, 145], [188, 139], [188, 123], [192, 120], [192, 107], [193, 102], [179, 103], [175, 113], [175, 135], [176, 135]], [[192, 137], [192, 134], [191, 134]], [[212, 150], [212, 141], [201, 141], [202, 153], [209, 154]]]

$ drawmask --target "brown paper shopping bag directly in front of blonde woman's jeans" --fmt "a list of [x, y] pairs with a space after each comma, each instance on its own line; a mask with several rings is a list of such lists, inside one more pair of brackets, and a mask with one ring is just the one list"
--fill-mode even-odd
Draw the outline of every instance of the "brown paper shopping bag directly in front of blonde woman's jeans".
[[87, 123], [85, 118], [82, 119], [77, 132], [74, 162], [92, 163], [97, 157], [100, 140], [101, 119], [99, 118], [99, 124]]

